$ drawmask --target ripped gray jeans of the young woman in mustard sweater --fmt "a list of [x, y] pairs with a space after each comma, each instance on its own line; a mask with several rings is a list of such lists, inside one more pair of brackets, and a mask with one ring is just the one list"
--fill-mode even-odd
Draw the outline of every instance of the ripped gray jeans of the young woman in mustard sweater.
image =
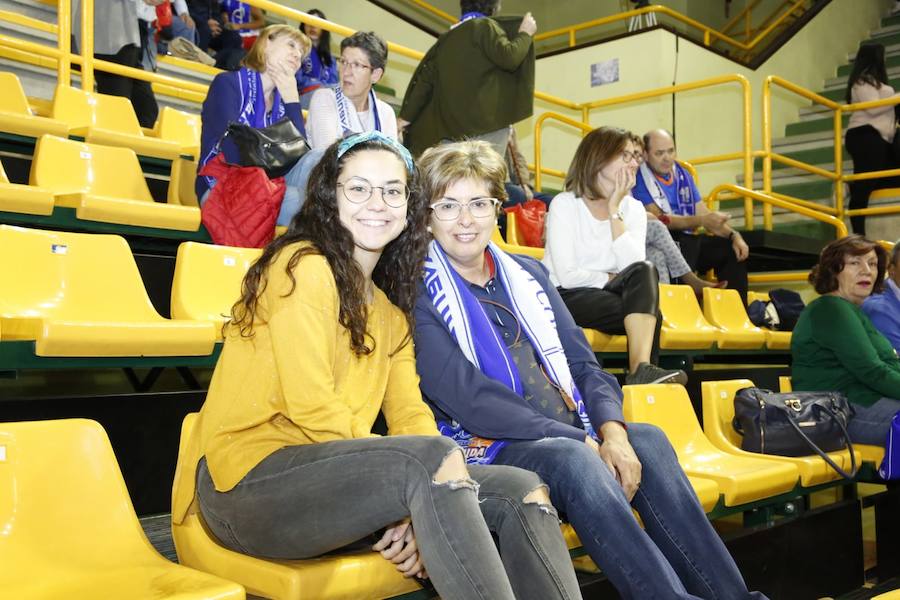
[[446, 600], [580, 598], [537, 475], [469, 466], [469, 477], [458, 477], [462, 465], [445, 437], [340, 440], [282, 448], [228, 492], [214, 489], [203, 459], [197, 494], [212, 532], [245, 554], [315, 557], [410, 517], [429, 577]]

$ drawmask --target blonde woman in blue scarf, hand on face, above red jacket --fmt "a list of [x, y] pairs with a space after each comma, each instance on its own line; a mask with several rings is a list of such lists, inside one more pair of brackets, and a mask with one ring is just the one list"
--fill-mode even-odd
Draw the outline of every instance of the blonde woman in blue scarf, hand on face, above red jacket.
[[[222, 140], [228, 124], [267, 127], [287, 117], [304, 133], [300, 95], [294, 78], [310, 43], [301, 31], [288, 25], [262, 30], [238, 71], [219, 73], [209, 86], [200, 117], [200, 167], [220, 152], [231, 164], [239, 162], [237, 148]], [[287, 225], [303, 204], [309, 173], [321, 152], [307, 152], [285, 176], [287, 188], [278, 215], [278, 225]], [[195, 184], [201, 206], [216, 184], [212, 177], [197, 176]]]

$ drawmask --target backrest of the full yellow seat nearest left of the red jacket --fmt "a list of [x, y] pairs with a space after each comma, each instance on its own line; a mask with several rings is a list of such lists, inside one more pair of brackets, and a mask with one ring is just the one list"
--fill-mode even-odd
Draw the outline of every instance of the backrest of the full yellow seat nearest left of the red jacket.
[[44, 135], [34, 151], [30, 181], [55, 193], [83, 192], [153, 202], [137, 155], [129, 148]]

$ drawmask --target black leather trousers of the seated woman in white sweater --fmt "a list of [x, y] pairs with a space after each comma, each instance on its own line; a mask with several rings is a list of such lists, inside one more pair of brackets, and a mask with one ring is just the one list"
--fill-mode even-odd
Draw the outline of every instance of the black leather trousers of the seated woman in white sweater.
[[566, 308], [579, 327], [596, 329], [608, 335], [625, 335], [625, 317], [631, 314], [656, 316], [650, 362], [659, 358], [659, 275], [647, 261], [628, 265], [600, 288], [558, 288]]

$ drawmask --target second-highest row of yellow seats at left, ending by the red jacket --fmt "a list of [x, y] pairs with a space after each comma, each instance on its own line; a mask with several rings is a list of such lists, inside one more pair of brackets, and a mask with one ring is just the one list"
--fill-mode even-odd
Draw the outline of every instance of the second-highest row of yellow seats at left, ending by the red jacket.
[[133, 150], [45, 134], [35, 146], [29, 185], [10, 183], [0, 165], [0, 211], [49, 216], [62, 207], [84, 221], [195, 232], [195, 175], [196, 162], [173, 160], [168, 201], [155, 202]]

